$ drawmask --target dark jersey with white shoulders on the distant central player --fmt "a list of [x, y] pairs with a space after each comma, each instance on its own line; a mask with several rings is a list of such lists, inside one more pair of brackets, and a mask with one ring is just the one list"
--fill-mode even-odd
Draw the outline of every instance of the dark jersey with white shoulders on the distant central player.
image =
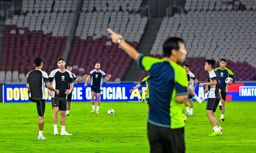
[[106, 77], [106, 74], [102, 70], [96, 72], [96, 69], [94, 69], [90, 71], [90, 76], [93, 77], [91, 81], [91, 86], [95, 88], [100, 88], [102, 85], [102, 79]]

